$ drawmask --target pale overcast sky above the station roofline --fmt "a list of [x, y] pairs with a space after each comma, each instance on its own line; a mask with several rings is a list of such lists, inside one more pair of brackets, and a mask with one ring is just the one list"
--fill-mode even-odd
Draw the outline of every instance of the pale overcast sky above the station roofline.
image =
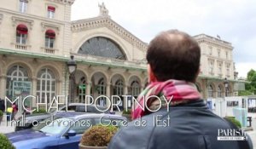
[[239, 77], [256, 70], [256, 0], [75, 0], [72, 20], [96, 17], [104, 2], [111, 19], [145, 43], [159, 32], [219, 35], [232, 43]]

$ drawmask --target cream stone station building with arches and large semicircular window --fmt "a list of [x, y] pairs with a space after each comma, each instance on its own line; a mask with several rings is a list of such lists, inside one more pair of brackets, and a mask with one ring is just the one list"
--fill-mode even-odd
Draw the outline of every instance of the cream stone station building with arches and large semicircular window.
[[[84, 102], [85, 95], [137, 96], [145, 88], [148, 43], [112, 20], [104, 3], [98, 16], [71, 21], [73, 3], [1, 0], [0, 98], [38, 95], [42, 103], [70, 95], [69, 102]], [[205, 34], [195, 39], [201, 46], [196, 87], [202, 98], [223, 98], [225, 91], [237, 95], [231, 43]], [[71, 55], [77, 69], [70, 75]], [[98, 104], [108, 102], [101, 99]]]

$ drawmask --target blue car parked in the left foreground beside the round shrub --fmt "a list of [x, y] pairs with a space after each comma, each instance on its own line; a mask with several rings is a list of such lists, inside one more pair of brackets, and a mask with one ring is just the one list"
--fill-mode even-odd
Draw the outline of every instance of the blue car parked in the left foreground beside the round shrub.
[[6, 134], [16, 149], [79, 149], [86, 129], [96, 124], [121, 127], [125, 117], [112, 114], [61, 112], [41, 121], [32, 129]]

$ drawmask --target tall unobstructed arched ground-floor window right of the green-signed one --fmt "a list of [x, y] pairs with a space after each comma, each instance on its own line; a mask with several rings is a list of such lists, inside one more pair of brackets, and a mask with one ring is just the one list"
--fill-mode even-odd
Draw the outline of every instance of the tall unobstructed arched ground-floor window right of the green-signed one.
[[54, 72], [50, 71], [48, 68], [42, 69], [38, 72], [38, 82], [37, 82], [37, 95], [39, 97], [40, 103], [51, 102], [52, 98], [55, 96], [56, 80]]

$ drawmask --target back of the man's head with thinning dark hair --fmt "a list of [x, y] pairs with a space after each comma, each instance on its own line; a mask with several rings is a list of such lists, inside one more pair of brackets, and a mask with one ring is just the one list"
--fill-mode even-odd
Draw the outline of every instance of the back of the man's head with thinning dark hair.
[[201, 49], [185, 32], [161, 32], [149, 43], [147, 60], [160, 82], [177, 79], [195, 82], [200, 67]]

